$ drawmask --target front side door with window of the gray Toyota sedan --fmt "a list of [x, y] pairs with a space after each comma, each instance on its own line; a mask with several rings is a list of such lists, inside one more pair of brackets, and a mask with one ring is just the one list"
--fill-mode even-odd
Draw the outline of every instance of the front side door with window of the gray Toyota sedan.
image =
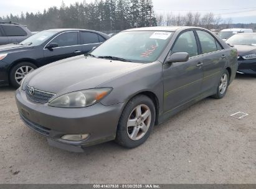
[[187, 62], [166, 64], [163, 67], [164, 111], [189, 103], [201, 94], [203, 71], [201, 56], [194, 30], [186, 30], [176, 39], [170, 55], [176, 52], [189, 53]]

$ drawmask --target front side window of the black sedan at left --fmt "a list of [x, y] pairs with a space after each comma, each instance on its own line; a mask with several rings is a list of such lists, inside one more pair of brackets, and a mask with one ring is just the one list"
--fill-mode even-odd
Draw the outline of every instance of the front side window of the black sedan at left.
[[50, 43], [57, 43], [59, 47], [78, 45], [77, 33], [78, 32], [65, 32], [55, 37]]

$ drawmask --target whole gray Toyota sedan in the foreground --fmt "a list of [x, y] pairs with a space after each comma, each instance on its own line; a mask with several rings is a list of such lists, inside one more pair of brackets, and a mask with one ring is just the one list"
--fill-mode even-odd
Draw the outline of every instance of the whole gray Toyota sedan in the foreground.
[[236, 71], [237, 50], [209, 30], [130, 29], [30, 73], [16, 102], [22, 121], [60, 149], [112, 140], [133, 148], [182, 109], [223, 98]]

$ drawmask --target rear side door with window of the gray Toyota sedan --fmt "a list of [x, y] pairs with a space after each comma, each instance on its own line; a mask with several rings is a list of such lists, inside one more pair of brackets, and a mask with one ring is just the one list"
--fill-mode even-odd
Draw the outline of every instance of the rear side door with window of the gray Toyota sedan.
[[202, 90], [215, 90], [224, 71], [227, 61], [227, 52], [217, 39], [206, 30], [196, 30], [201, 45], [204, 80]]

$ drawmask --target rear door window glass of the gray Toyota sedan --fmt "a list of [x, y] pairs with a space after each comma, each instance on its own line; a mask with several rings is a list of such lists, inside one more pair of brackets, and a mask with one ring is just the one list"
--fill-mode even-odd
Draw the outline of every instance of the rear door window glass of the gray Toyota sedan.
[[[201, 30], [197, 30], [196, 32], [201, 43], [202, 53], [209, 53], [222, 49], [211, 34]], [[219, 47], [217, 47], [217, 45], [219, 45]]]

